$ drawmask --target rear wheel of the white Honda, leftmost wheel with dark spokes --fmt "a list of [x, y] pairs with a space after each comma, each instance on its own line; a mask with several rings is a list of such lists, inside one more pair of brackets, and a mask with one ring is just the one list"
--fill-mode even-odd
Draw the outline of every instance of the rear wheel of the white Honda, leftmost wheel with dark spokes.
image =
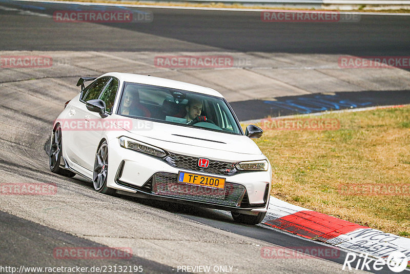
[[75, 173], [61, 168], [61, 155], [63, 155], [63, 135], [61, 134], [61, 126], [58, 124], [51, 134], [49, 164], [51, 172], [66, 176], [74, 177]]

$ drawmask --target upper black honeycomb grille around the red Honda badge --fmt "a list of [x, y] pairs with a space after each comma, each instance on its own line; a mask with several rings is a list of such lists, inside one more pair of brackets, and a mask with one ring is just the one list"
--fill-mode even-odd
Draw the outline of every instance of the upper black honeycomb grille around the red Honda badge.
[[209, 160], [209, 166], [207, 168], [201, 168], [198, 166], [199, 158], [197, 157], [181, 155], [172, 152], [168, 153], [169, 155], [167, 156], [167, 158], [165, 158], [165, 160], [168, 164], [176, 168], [183, 168], [192, 171], [202, 171], [225, 176], [230, 176], [237, 172], [235, 168], [236, 163]]

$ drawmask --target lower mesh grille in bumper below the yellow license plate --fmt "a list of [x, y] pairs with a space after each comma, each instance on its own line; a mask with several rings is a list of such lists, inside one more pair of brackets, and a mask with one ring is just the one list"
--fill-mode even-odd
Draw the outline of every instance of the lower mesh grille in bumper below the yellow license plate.
[[242, 200], [245, 187], [225, 182], [224, 189], [180, 184], [178, 174], [158, 172], [153, 175], [152, 191], [159, 195], [226, 206], [236, 206]]

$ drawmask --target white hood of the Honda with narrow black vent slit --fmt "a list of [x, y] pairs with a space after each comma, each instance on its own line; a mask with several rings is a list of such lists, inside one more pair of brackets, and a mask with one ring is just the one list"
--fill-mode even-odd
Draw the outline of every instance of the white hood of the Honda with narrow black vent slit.
[[[141, 120], [138, 121], [140, 122]], [[134, 126], [133, 129], [122, 128], [135, 135], [134, 138], [141, 142], [146, 142], [169, 151], [182, 152], [179, 150], [186, 150], [188, 149], [186, 146], [190, 146], [191, 151], [185, 151], [185, 154], [190, 154], [189, 152], [196, 154], [195, 152], [208, 148], [239, 154], [262, 155], [255, 142], [245, 135], [151, 121], [140, 123], [140, 125]], [[133, 137], [130, 135], [130, 138]], [[195, 152], [192, 147], [196, 147]]]

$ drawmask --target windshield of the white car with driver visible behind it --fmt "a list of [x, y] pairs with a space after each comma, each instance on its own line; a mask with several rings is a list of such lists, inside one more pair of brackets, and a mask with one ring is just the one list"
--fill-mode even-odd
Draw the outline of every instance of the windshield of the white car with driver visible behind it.
[[220, 97], [152, 85], [124, 84], [117, 114], [178, 126], [242, 134]]

